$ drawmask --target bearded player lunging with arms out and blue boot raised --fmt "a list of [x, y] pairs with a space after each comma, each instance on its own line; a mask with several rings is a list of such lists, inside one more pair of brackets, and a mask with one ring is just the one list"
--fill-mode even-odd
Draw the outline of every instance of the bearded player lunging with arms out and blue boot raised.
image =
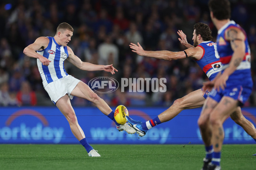
[[[141, 45], [131, 43], [130, 48], [133, 52], [137, 53], [140, 56], [145, 57], [154, 57], [157, 59], [183, 59], [186, 57], [192, 57], [195, 59], [195, 62], [202, 68], [202, 70], [207, 74], [207, 77], [210, 81], [215, 79], [215, 77], [220, 73], [221, 65], [220, 58], [217, 52], [217, 45], [215, 42], [212, 42], [211, 30], [208, 25], [204, 23], [196, 23], [194, 26], [193, 38], [194, 46], [190, 45], [186, 40], [186, 35], [182, 31], [177, 32], [181, 39], [179, 38], [181, 44], [185, 45], [188, 49], [180, 52], [172, 51], [144, 51]], [[194, 48], [195, 47], [195, 48]], [[181, 99], [175, 100], [173, 105], [168, 108], [163, 113], [160, 113], [154, 119], [151, 119], [147, 122], [139, 122], [131, 119], [129, 116], [126, 116], [128, 123], [134, 127], [139, 136], [144, 136], [147, 130], [159, 125], [160, 123], [167, 122], [177, 116], [181, 111], [185, 109], [199, 108], [203, 106], [205, 99], [207, 98], [208, 91], [203, 92], [201, 89], [193, 91]], [[244, 118], [241, 113], [241, 108], [236, 107], [230, 117], [244, 130], [256, 139], [256, 129], [254, 125]], [[207, 145], [207, 158], [211, 159], [212, 156], [212, 145]], [[207, 165], [206, 165], [207, 166]]]

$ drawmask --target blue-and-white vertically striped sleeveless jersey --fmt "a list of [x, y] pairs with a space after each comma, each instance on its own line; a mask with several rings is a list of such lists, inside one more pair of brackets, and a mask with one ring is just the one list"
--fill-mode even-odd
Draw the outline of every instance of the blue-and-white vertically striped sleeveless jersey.
[[51, 61], [50, 64], [46, 66], [37, 59], [38, 70], [41, 74], [44, 87], [50, 82], [68, 75], [64, 69], [64, 61], [68, 57], [67, 46], [58, 45], [54, 37], [47, 38], [49, 39], [47, 48], [42, 51], [36, 51], [38, 54], [41, 54]]

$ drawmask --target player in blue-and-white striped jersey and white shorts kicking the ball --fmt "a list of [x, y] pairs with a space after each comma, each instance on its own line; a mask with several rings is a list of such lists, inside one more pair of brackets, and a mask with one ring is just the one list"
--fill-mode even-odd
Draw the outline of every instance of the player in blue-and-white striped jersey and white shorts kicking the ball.
[[[95, 94], [85, 83], [67, 74], [64, 69], [64, 60], [67, 59], [76, 67], [85, 71], [104, 70], [115, 74], [117, 71], [112, 65], [94, 65], [82, 62], [72, 49], [67, 46], [73, 35], [73, 28], [68, 23], [61, 23], [54, 37], [39, 37], [34, 43], [24, 49], [24, 54], [37, 58], [38, 69], [43, 80], [43, 85], [52, 102], [67, 118], [70, 128], [76, 139], [85, 147], [89, 156], [100, 156], [93, 147], [88, 144], [84, 132], [78, 124], [76, 113], [73, 110], [70, 99], [78, 96], [93, 102], [102, 113], [116, 123], [119, 131], [135, 133], [129, 125], [119, 125], [114, 119], [114, 112], [107, 103]], [[35, 52], [36, 51], [36, 52]]]

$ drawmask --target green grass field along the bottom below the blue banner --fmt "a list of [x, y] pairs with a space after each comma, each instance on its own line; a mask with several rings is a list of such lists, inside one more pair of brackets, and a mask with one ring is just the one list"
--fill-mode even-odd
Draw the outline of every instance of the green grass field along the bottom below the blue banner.
[[[0, 170], [200, 170], [203, 145], [93, 144], [101, 157], [79, 144], [0, 144]], [[256, 145], [230, 144], [222, 170], [256, 170]]]

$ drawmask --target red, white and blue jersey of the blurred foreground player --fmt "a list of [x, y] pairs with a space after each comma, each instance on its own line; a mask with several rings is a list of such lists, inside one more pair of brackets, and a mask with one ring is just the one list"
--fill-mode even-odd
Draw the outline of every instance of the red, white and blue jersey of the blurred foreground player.
[[233, 55], [233, 50], [230, 45], [230, 41], [226, 40], [225, 37], [225, 31], [228, 28], [239, 28], [241, 31], [243, 31], [245, 35], [245, 55], [239, 66], [236, 68], [236, 71], [233, 72], [233, 74], [230, 75], [229, 79], [233, 82], [239, 82], [241, 80], [249, 80], [251, 79], [251, 64], [250, 64], [250, 47], [249, 43], [247, 41], [247, 36], [243, 28], [241, 28], [238, 24], [236, 24], [234, 21], [230, 21], [227, 24], [225, 24], [221, 29], [218, 30], [218, 37], [217, 37], [217, 49], [218, 54], [220, 55], [221, 63], [223, 66], [223, 70], [229, 66], [231, 57]]

